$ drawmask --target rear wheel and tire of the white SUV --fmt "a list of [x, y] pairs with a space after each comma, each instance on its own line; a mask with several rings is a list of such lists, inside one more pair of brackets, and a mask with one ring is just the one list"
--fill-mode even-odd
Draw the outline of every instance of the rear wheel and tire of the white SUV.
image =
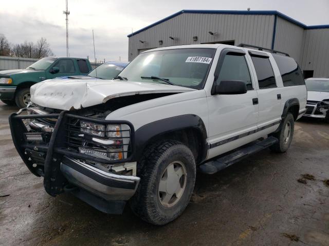
[[295, 129], [295, 119], [291, 113], [288, 113], [283, 121], [282, 128], [279, 132], [274, 134], [278, 138], [278, 142], [272, 145], [270, 149], [277, 153], [284, 153], [289, 149], [291, 141], [293, 140]]

